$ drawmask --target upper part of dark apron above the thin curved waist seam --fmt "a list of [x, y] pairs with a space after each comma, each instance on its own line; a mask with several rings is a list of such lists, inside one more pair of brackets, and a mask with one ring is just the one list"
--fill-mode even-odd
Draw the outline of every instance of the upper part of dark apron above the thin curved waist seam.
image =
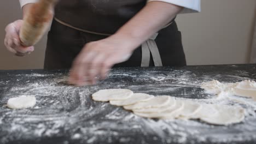
[[113, 34], [146, 5], [146, 0], [61, 0], [55, 17], [73, 27]]

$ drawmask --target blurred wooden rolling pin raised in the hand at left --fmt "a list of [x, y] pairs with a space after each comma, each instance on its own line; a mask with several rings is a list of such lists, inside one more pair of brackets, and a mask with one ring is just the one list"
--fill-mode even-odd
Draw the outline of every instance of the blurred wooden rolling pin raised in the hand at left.
[[39, 0], [28, 10], [20, 29], [20, 40], [23, 46], [32, 46], [43, 37], [53, 20], [54, 6], [57, 1], [59, 0]]

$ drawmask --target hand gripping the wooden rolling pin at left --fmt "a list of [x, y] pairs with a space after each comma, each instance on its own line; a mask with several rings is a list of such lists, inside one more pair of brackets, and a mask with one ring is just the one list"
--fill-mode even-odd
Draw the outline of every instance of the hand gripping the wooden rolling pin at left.
[[17, 20], [13, 23], [10, 23], [5, 28], [5, 39], [4, 39], [4, 45], [7, 47], [7, 49], [14, 53], [16, 56], [26, 56], [30, 54], [32, 51], [34, 51], [34, 46], [28, 46], [24, 47], [21, 45], [20, 37], [19, 37], [19, 31], [22, 26], [23, 20]]

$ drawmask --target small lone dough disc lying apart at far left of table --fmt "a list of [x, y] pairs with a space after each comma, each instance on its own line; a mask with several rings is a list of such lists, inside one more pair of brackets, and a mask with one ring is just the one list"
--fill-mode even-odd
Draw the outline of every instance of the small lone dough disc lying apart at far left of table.
[[10, 98], [7, 102], [7, 107], [10, 109], [26, 109], [36, 105], [36, 97], [22, 95], [16, 98]]

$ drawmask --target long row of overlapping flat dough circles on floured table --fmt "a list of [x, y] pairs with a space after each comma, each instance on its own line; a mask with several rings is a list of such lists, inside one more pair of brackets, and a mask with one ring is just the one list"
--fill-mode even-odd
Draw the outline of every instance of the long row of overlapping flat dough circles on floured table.
[[109, 101], [123, 106], [135, 115], [160, 119], [201, 119], [218, 125], [240, 123], [245, 110], [240, 106], [204, 104], [192, 99], [174, 98], [169, 95], [133, 93], [129, 89], [103, 89], [92, 94], [95, 101]]

